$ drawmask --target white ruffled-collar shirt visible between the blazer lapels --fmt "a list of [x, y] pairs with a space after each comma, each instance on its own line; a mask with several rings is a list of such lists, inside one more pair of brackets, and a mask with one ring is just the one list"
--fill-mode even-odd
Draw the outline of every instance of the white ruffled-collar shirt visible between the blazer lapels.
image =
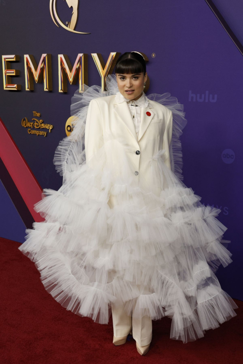
[[[135, 130], [137, 133], [137, 136], [139, 135], [139, 127], [141, 123], [141, 107], [147, 107], [149, 103], [149, 99], [145, 95], [145, 93], [142, 91], [142, 95], [137, 100], [129, 100], [126, 99], [120, 91], [116, 93], [116, 102], [121, 103], [126, 101], [128, 104], [128, 108], [130, 110], [131, 116], [134, 121]], [[137, 105], [137, 106], [136, 106]]]

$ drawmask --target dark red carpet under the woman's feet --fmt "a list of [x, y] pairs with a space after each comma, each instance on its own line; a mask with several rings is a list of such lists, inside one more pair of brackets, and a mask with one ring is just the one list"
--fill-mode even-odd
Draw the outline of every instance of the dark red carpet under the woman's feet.
[[237, 316], [187, 344], [170, 339], [170, 318], [153, 321], [150, 350], [141, 356], [131, 336], [124, 345], [112, 344], [112, 317], [108, 325], [100, 325], [57, 303], [19, 245], [0, 238], [1, 364], [242, 363], [242, 301], [235, 300]]

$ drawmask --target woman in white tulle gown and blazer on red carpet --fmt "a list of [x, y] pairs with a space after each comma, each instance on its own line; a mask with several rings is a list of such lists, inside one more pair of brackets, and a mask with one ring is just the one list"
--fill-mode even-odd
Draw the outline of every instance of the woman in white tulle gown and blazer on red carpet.
[[[215, 276], [232, 255], [222, 243], [221, 210], [205, 207], [183, 182], [179, 140], [187, 120], [169, 93], [146, 96], [146, 64], [126, 52], [107, 91], [85, 86], [72, 98], [72, 133], [54, 156], [63, 175], [35, 211], [19, 249], [53, 298], [107, 324], [113, 343], [133, 333], [149, 350], [152, 320], [172, 318], [172, 339], [204, 336], [238, 308]], [[44, 196], [45, 195], [45, 196]]]

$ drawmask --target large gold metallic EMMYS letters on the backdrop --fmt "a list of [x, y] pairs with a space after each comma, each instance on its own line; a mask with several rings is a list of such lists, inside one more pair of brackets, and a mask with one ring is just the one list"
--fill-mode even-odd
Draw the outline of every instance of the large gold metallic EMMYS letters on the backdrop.
[[[145, 62], [148, 57], [140, 53]], [[111, 52], [106, 64], [104, 63], [101, 53], [91, 53], [95, 66], [101, 76], [101, 86], [105, 90], [105, 80], [108, 74], [113, 72], [120, 52]], [[2, 55], [2, 71], [3, 71], [3, 89], [4, 90], [21, 90], [20, 84], [14, 84], [11, 77], [19, 76], [18, 69], [11, 69], [11, 62], [19, 61], [19, 55]], [[43, 53], [39, 64], [35, 62], [32, 54], [24, 54], [24, 73], [25, 73], [25, 90], [34, 90], [35, 83], [41, 83], [44, 80], [44, 91], [52, 91], [52, 55]], [[58, 54], [58, 91], [68, 92], [67, 81], [70, 84], [79, 83], [79, 92], [84, 92], [84, 84], [88, 84], [87, 70], [87, 53], [78, 53], [76, 61], [72, 66], [67, 54]], [[149, 87], [149, 78], [146, 82], [146, 93]]]

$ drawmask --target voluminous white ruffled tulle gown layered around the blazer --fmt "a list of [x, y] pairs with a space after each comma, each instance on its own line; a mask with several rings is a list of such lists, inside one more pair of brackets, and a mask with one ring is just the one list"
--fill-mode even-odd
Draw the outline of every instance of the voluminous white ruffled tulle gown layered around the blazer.
[[[172, 170], [164, 164], [163, 149], [151, 160], [152, 181], [159, 177], [163, 186], [159, 194], [142, 183], [134, 188], [125, 175], [118, 181], [106, 164], [114, 153], [107, 146], [100, 149], [98, 167], [87, 167], [89, 102], [118, 91], [115, 75], [106, 84], [107, 91], [85, 86], [72, 97], [74, 130], [53, 160], [63, 184], [58, 191], [43, 190], [35, 211], [45, 221], [26, 230], [19, 249], [35, 262], [46, 290], [74, 314], [107, 324], [111, 302], [123, 302], [128, 315], [172, 318], [171, 339], [196, 340], [238, 308], [215, 276], [220, 264], [232, 262], [229, 241], [222, 239], [227, 228], [216, 218], [221, 210], [204, 206], [182, 182], [180, 135], [187, 120], [183, 105], [169, 93], [146, 95], [173, 113]], [[119, 164], [121, 153], [118, 158]], [[110, 194], [119, 201], [115, 208], [107, 204]]]

